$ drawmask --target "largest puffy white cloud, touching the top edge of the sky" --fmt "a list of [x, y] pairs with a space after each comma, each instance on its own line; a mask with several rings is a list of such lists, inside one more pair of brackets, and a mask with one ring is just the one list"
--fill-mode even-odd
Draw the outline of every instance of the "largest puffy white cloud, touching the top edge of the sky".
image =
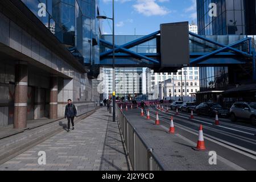
[[[158, 0], [159, 2], [164, 2], [166, 0]], [[137, 3], [133, 5], [134, 9], [145, 16], [152, 15], [166, 15], [170, 13], [164, 6], [159, 6], [156, 0], [137, 0]]]

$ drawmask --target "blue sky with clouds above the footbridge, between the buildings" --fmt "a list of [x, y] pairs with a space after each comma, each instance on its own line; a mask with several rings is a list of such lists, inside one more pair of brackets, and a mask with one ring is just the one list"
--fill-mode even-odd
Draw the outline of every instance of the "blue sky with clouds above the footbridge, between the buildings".
[[[100, 0], [102, 15], [112, 17], [112, 0]], [[196, 0], [115, 0], [115, 34], [146, 35], [161, 23], [196, 23]], [[103, 20], [104, 34], [112, 34], [112, 20]]]

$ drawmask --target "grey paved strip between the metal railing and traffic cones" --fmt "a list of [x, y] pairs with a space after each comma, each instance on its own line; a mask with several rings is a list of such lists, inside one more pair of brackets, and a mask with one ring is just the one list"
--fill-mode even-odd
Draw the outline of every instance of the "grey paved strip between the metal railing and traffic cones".
[[[123, 111], [131, 125], [136, 127], [148, 147], [154, 148], [154, 153], [166, 170], [170, 171], [230, 171], [236, 170], [233, 166], [224, 163], [219, 157], [217, 165], [209, 164], [208, 152], [192, 150], [188, 139], [179, 133], [169, 134], [168, 129], [156, 126], [154, 120], [146, 120], [140, 116], [139, 109]], [[153, 119], [153, 118], [151, 118]]]

